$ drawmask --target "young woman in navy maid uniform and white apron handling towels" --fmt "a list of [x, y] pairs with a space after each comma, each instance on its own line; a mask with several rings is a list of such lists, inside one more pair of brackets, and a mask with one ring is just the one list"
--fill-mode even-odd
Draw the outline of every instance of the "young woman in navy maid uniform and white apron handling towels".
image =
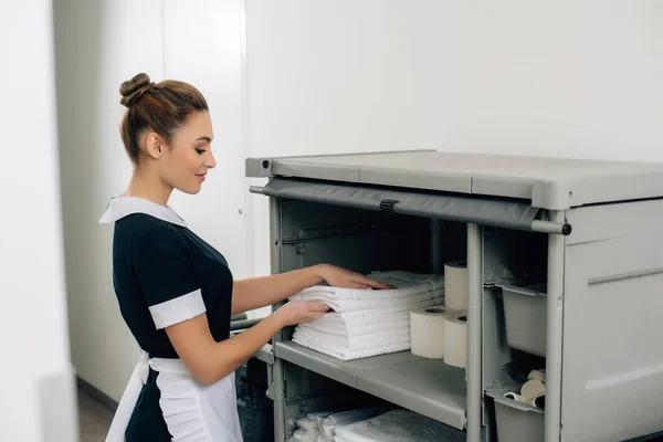
[[204, 97], [187, 83], [155, 84], [146, 74], [124, 82], [119, 92], [128, 108], [120, 134], [134, 175], [101, 222], [115, 223], [113, 282], [143, 357], [107, 441], [241, 441], [234, 370], [282, 327], [315, 320], [328, 307], [287, 303], [229, 338], [231, 315], [324, 281], [386, 286], [332, 265], [233, 281], [223, 255], [168, 206], [173, 189], [198, 193], [217, 164]]

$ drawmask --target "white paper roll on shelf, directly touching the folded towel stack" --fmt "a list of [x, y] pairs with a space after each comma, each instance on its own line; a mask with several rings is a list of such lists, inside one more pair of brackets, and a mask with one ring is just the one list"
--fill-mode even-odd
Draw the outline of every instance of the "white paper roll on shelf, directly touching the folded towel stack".
[[410, 312], [410, 345], [414, 356], [444, 358], [444, 306], [418, 308]]

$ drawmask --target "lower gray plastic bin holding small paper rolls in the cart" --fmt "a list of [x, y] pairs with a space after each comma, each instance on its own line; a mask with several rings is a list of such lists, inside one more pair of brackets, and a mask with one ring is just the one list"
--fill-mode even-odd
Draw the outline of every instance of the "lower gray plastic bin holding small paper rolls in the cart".
[[516, 386], [486, 391], [494, 399], [497, 442], [544, 442], [544, 410], [504, 397], [518, 390]]

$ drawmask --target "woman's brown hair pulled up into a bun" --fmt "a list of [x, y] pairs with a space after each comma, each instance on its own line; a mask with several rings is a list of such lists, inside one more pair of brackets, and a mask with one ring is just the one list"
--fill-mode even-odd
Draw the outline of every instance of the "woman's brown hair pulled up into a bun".
[[138, 165], [140, 149], [138, 135], [150, 129], [159, 134], [167, 144], [192, 113], [209, 110], [207, 101], [196, 87], [175, 80], [151, 83], [147, 74], [140, 73], [119, 86], [127, 107], [119, 131], [131, 162]]

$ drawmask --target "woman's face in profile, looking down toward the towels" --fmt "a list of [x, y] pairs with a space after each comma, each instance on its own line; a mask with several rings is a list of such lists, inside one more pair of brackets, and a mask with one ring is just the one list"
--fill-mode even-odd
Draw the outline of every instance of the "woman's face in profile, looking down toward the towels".
[[209, 169], [217, 166], [212, 155], [212, 122], [208, 112], [197, 112], [173, 134], [161, 151], [159, 175], [171, 188], [198, 193]]

